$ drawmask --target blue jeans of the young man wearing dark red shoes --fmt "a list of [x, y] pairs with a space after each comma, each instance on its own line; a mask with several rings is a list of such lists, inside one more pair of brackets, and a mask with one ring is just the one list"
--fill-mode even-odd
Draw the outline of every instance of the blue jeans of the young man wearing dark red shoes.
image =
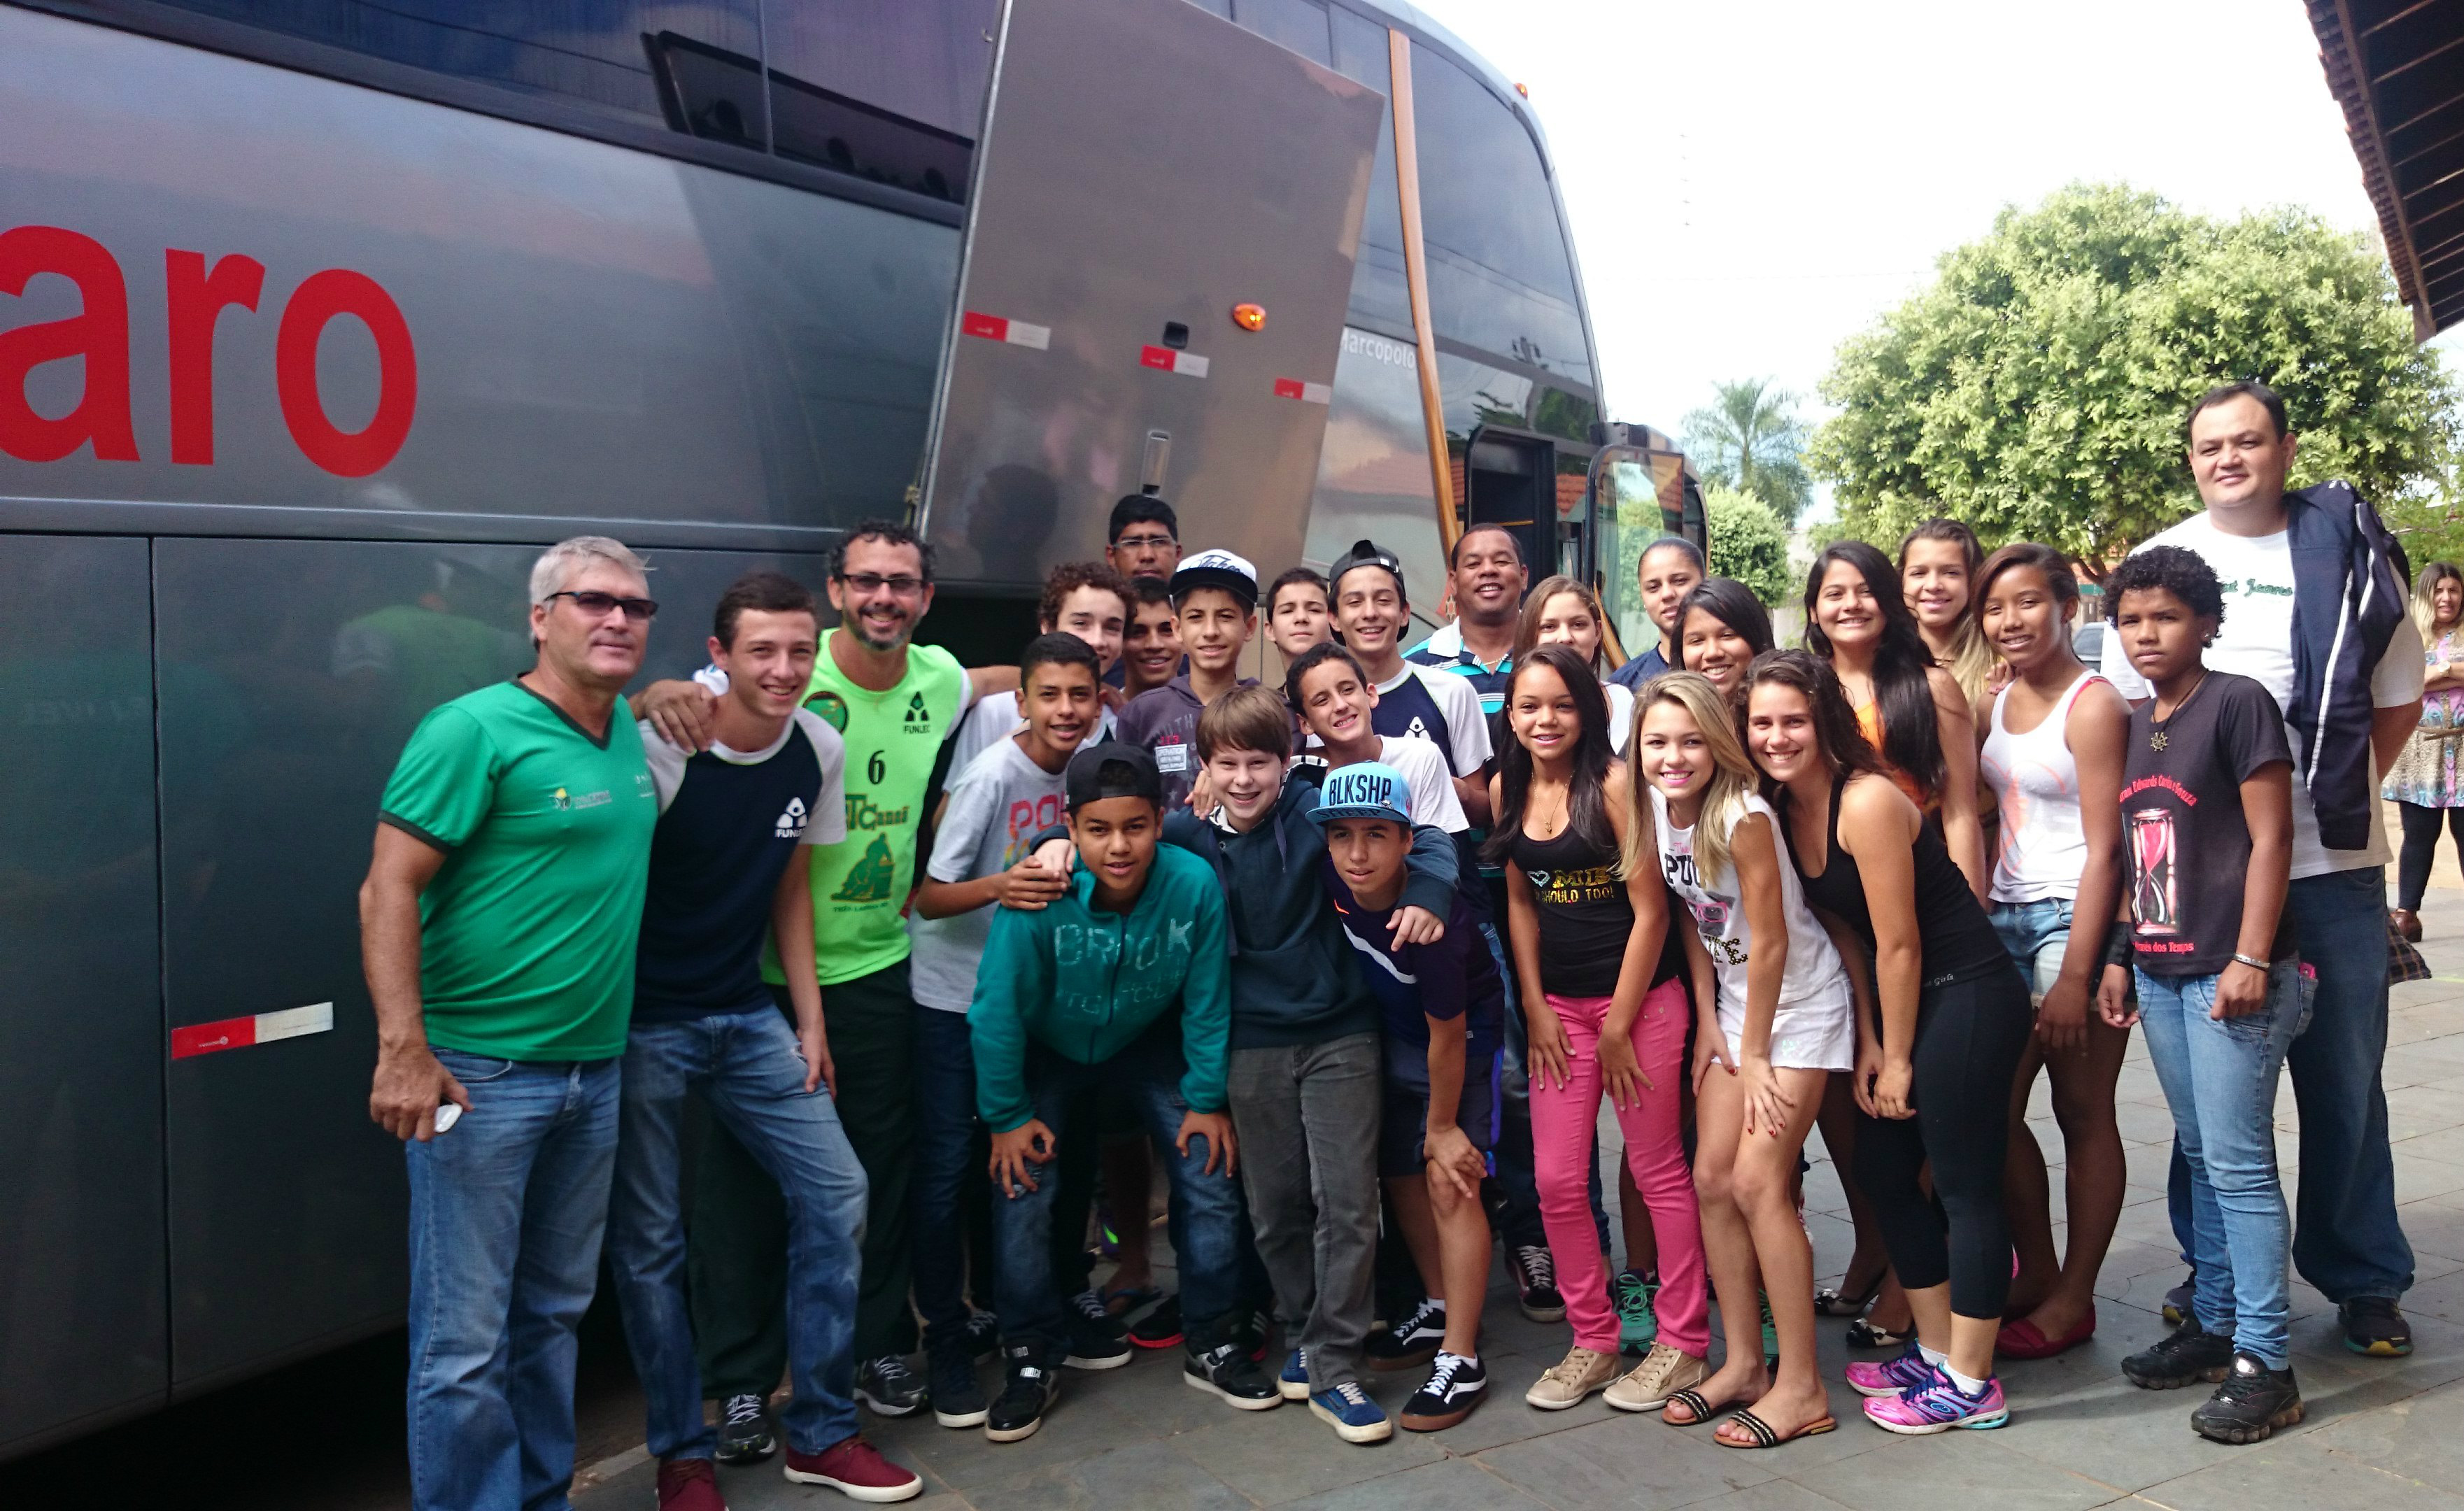
[[865, 1168], [830, 1092], [803, 1089], [803, 1053], [776, 1008], [636, 1023], [623, 1055], [623, 1136], [609, 1205], [609, 1260], [650, 1452], [707, 1459], [702, 1370], [685, 1304], [685, 1092], [752, 1154], [786, 1198], [786, 1334], [796, 1398], [779, 1412], [788, 1447], [818, 1454], [855, 1437], [855, 1277]]

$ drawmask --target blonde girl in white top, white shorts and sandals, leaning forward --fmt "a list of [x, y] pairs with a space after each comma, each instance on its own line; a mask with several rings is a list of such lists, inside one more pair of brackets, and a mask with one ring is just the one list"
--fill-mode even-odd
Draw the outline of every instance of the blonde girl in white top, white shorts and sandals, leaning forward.
[[[1850, 986], [1791, 885], [1781, 828], [1754, 796], [1754, 767], [1720, 690], [1690, 670], [1653, 678], [1636, 698], [1626, 752], [1636, 776], [1626, 875], [1661, 868], [1695, 917], [1683, 932], [1695, 979], [1720, 979], [1698, 988], [1693, 1075], [1695, 1195], [1727, 1361], [1663, 1415], [1693, 1427], [1745, 1405], [1717, 1430], [1732, 1447], [1831, 1432], [1794, 1178], [1831, 1070], [1853, 1065]], [[1757, 1274], [1779, 1331], [1777, 1378], [1762, 1358]]]

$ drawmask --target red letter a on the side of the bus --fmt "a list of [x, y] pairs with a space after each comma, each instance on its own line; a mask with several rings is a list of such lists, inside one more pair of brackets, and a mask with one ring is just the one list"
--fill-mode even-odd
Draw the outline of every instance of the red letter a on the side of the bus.
[[[25, 296], [37, 274], [76, 283], [84, 311], [67, 320], [0, 330], [0, 451], [17, 461], [59, 461], [94, 441], [99, 461], [136, 461], [128, 422], [128, 281], [94, 237], [59, 227], [0, 232], [0, 293]], [[76, 409], [44, 419], [25, 397], [27, 377], [44, 362], [86, 360], [86, 392]]]

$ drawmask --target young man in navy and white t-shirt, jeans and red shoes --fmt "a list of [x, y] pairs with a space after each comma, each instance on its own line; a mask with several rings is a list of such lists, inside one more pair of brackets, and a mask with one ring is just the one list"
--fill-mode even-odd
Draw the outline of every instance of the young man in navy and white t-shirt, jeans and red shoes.
[[[715, 744], [690, 754], [641, 727], [658, 828], [623, 1057], [609, 1260], [658, 1457], [660, 1511], [724, 1511], [717, 1430], [685, 1304], [680, 1129], [685, 1092], [779, 1181], [788, 1208], [786, 1476], [865, 1501], [924, 1491], [855, 1432], [855, 1282], [865, 1168], [838, 1122], [813, 971], [811, 845], [845, 838], [845, 744], [801, 707], [813, 680], [813, 594], [749, 572], [719, 597], [710, 658], [727, 673]], [[796, 1025], [761, 984], [776, 939]]]

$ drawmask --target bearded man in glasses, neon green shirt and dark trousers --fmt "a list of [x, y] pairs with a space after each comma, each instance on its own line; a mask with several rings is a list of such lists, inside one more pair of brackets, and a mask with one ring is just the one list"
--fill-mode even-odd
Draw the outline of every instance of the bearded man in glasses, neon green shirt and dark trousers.
[[[813, 959], [830, 1013], [838, 1119], [872, 1186], [855, 1299], [855, 1398], [885, 1417], [914, 1412], [926, 1395], [907, 1366], [917, 1346], [907, 1304], [914, 1018], [929, 1011], [907, 988], [917, 833], [941, 742], [978, 693], [1018, 685], [1018, 668], [1000, 668], [1005, 678], [968, 673], [949, 651], [914, 643], [931, 594], [931, 547], [922, 537], [890, 520], [848, 530], [830, 560], [840, 624], [821, 636], [806, 695], [806, 707], [848, 742], [848, 838], [813, 845]], [[636, 712], [673, 730], [678, 744], [707, 744], [707, 698], [695, 683], [653, 683]], [[766, 976], [781, 1011], [791, 1011], [776, 964]], [[695, 1171], [690, 1267], [702, 1390], [727, 1403], [719, 1459], [761, 1457], [752, 1407], [742, 1407], [742, 1435], [729, 1425], [739, 1398], [769, 1400], [786, 1368], [786, 1208], [724, 1129], [712, 1129]]]

